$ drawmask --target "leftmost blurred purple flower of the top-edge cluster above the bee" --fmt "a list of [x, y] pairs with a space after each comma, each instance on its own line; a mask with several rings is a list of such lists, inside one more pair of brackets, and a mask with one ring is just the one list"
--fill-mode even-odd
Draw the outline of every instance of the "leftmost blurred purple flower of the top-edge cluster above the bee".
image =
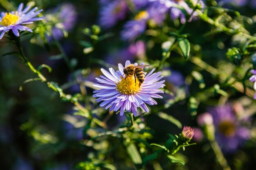
[[117, 21], [126, 17], [128, 5], [125, 0], [116, 0], [104, 5], [100, 12], [99, 22], [105, 28], [114, 26]]

